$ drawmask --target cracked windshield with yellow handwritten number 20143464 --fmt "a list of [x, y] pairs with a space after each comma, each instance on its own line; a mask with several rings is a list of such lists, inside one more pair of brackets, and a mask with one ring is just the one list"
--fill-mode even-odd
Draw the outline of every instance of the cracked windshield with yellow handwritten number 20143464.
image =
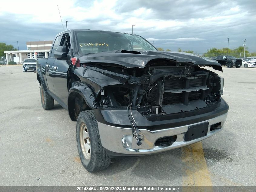
[[114, 50], [156, 51], [149, 42], [138, 35], [103, 31], [77, 31], [79, 52], [84, 54]]

